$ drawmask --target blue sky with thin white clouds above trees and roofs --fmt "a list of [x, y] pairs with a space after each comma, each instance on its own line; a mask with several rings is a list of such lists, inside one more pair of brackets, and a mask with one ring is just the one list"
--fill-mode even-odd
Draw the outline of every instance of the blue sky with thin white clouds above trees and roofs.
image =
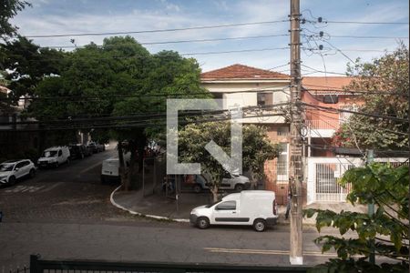
[[[178, 51], [198, 60], [203, 72], [241, 64], [289, 74], [290, 0], [28, 0], [32, 7], [11, 21], [19, 33], [67, 35], [33, 37], [41, 46], [101, 45], [110, 35], [86, 33], [135, 32], [210, 25], [261, 23], [184, 31], [132, 34], [152, 54]], [[338, 76], [357, 57], [363, 61], [392, 51], [400, 40], [408, 46], [408, 0], [301, 0], [302, 76]], [[323, 22], [318, 23], [318, 17]], [[394, 22], [405, 25], [342, 24]], [[266, 23], [271, 22], [271, 23]], [[323, 38], [318, 35], [323, 32]], [[346, 37], [350, 36], [350, 37]], [[356, 36], [356, 37], [351, 37]], [[360, 36], [357, 37], [357, 36]], [[369, 38], [383, 36], [384, 38]], [[393, 38], [390, 38], [393, 37]], [[75, 39], [74, 43], [71, 39]], [[192, 42], [192, 40], [212, 40]], [[215, 41], [215, 39], [225, 39]], [[180, 42], [148, 45], [149, 43]], [[323, 45], [323, 50], [318, 50]], [[72, 50], [65, 47], [65, 50]], [[317, 71], [317, 72], [316, 72]]]

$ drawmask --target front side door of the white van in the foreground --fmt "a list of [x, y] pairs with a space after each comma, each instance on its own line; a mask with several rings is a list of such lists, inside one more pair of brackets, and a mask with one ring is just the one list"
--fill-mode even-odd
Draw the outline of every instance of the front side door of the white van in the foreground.
[[220, 204], [215, 206], [213, 209], [213, 224], [238, 225], [248, 222], [249, 218], [240, 217], [240, 215], [238, 214], [238, 206], [239, 204], [235, 200], [220, 202]]

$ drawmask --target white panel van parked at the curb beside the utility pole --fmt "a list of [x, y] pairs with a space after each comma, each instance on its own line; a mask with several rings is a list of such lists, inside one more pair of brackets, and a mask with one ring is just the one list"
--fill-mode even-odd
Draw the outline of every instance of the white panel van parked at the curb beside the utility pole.
[[256, 231], [276, 224], [275, 193], [269, 190], [243, 190], [230, 194], [217, 203], [195, 207], [190, 223], [200, 228], [210, 225], [253, 226]]

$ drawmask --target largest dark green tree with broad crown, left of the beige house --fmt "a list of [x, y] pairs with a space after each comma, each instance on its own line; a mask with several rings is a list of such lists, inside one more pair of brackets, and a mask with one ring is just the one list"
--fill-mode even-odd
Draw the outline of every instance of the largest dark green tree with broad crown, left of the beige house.
[[[38, 120], [69, 125], [71, 118], [85, 117], [89, 120], [81, 126], [93, 137], [107, 139], [109, 134], [123, 144], [118, 153], [122, 148], [131, 153], [128, 175], [122, 173], [125, 188], [133, 177], [140, 184], [147, 139], [165, 131], [165, 116], [152, 123], [148, 115], [164, 113], [167, 97], [210, 96], [200, 87], [194, 59], [168, 51], [151, 55], [130, 36], [109, 37], [102, 46], [91, 43], [67, 54], [58, 76], [44, 78], [34, 94], [38, 99], [29, 112]], [[124, 116], [135, 119], [126, 122]], [[101, 121], [107, 117], [113, 119]]]

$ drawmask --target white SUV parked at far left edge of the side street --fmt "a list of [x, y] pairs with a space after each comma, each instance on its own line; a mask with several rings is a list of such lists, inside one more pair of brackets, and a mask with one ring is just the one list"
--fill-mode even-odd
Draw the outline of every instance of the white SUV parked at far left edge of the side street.
[[36, 166], [30, 159], [9, 160], [0, 164], [0, 184], [14, 185], [22, 177], [36, 177]]

